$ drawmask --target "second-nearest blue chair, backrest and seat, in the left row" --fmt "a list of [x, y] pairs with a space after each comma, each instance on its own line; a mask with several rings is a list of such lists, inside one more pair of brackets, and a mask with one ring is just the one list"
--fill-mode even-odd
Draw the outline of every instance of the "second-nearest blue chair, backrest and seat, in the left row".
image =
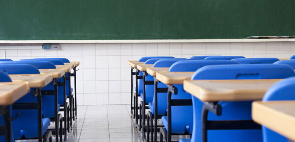
[[[0, 64], [0, 70], [6, 72], [7, 74], [39, 74], [40, 73], [36, 67], [29, 64]], [[38, 102], [37, 98], [32, 97], [31, 94], [32, 94], [32, 91], [30, 91], [27, 95], [17, 100], [15, 103]], [[43, 97], [43, 100], [50, 101], [50, 99], [45, 97], [46, 96]], [[49, 106], [47, 105], [47, 108], [52, 107], [53, 104], [54, 104], [54, 101], [52, 101]], [[51, 110], [49, 109], [42, 110], [43, 116], [46, 113], [50, 113], [50, 111]], [[54, 113], [54, 109], [53, 109], [53, 113]], [[37, 111], [34, 109], [13, 109], [12, 116], [17, 116], [17, 115], [18, 117], [12, 121], [12, 130], [13, 130], [14, 139], [21, 139], [22, 137], [25, 137], [27, 139], [37, 138], [38, 137]], [[49, 125], [50, 125], [50, 119], [47, 117], [42, 118], [42, 135], [45, 135]]]

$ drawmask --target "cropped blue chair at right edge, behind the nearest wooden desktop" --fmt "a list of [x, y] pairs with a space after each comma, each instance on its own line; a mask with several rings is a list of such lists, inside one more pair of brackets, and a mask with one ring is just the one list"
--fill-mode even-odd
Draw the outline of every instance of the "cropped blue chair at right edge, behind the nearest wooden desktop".
[[[275, 83], [263, 97], [263, 101], [295, 100], [295, 77], [290, 77]], [[290, 142], [288, 139], [262, 126], [264, 142]]]

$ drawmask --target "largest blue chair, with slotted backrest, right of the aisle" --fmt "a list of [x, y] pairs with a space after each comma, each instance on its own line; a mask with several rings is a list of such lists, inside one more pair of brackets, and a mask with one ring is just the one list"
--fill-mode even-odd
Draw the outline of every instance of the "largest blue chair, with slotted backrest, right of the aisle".
[[[287, 65], [253, 64], [253, 65], [214, 65], [197, 70], [192, 80], [202, 79], [280, 79], [295, 76], [294, 70]], [[193, 99], [193, 133], [190, 142], [201, 141], [201, 112], [203, 102], [197, 97]], [[209, 112], [208, 120], [252, 120], [252, 101], [218, 102], [222, 107], [222, 115]], [[261, 142], [261, 130], [207, 130], [208, 142]], [[189, 142], [181, 139], [179, 142]]]

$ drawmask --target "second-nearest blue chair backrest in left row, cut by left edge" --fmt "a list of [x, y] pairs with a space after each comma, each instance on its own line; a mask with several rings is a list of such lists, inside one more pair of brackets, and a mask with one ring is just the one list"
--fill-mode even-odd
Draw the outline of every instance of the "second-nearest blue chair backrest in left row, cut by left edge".
[[29, 64], [0, 64], [0, 70], [7, 74], [40, 74], [36, 67]]

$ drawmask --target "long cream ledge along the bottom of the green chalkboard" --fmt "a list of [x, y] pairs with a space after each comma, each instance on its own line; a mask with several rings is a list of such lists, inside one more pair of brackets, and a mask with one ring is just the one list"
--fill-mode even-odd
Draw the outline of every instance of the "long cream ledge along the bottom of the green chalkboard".
[[295, 42], [295, 39], [189, 39], [189, 40], [0, 40], [0, 44], [43, 43], [229, 43], [229, 42]]

